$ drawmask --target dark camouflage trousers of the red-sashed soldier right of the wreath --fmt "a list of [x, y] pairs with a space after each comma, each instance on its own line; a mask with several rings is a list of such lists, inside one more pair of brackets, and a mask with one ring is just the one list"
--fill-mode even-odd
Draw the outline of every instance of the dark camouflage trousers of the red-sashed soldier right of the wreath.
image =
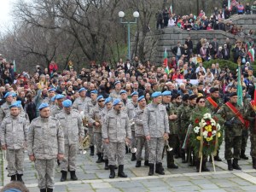
[[[241, 136], [225, 135], [225, 160], [240, 159]], [[232, 153], [232, 148], [234, 152]]]

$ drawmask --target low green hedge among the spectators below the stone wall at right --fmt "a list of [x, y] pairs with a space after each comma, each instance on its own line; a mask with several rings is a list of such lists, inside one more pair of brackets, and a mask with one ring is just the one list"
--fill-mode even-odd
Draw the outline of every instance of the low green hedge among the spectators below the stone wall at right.
[[[236, 72], [236, 68], [237, 68], [237, 64], [233, 61], [230, 60], [210, 60], [210, 61], [205, 61], [203, 62], [203, 67], [207, 68], [211, 68], [212, 63], [217, 63], [218, 62], [218, 66], [220, 68], [224, 68], [224, 67], [229, 67], [231, 72]], [[253, 64], [251, 64], [251, 66], [253, 67], [253, 74], [256, 75], [256, 61], [254, 61]]]

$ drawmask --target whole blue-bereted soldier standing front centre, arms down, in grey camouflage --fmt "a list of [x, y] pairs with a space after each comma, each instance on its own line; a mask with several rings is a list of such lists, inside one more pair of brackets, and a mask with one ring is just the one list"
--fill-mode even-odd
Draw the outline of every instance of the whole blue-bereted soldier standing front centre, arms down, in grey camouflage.
[[108, 160], [110, 175], [115, 177], [114, 166], [116, 160], [119, 164], [119, 177], [127, 177], [124, 172], [125, 140], [131, 143], [131, 126], [128, 115], [122, 110], [119, 99], [113, 101], [113, 110], [109, 111], [102, 126], [102, 137], [108, 143]]

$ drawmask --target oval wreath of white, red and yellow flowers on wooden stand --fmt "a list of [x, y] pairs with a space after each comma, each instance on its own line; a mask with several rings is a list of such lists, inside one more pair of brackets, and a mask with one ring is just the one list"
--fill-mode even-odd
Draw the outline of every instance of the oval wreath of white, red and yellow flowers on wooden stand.
[[202, 119], [195, 118], [193, 127], [191, 144], [195, 153], [199, 153], [199, 156], [216, 154], [223, 140], [217, 116], [212, 117], [211, 113], [205, 113]]

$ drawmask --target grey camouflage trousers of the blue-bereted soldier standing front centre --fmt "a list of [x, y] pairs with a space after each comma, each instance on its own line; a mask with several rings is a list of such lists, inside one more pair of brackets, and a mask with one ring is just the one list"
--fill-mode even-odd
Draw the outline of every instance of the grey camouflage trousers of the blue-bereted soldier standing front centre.
[[124, 165], [125, 163], [125, 142], [122, 143], [108, 143], [108, 164], [115, 165], [116, 160], [118, 165]]

